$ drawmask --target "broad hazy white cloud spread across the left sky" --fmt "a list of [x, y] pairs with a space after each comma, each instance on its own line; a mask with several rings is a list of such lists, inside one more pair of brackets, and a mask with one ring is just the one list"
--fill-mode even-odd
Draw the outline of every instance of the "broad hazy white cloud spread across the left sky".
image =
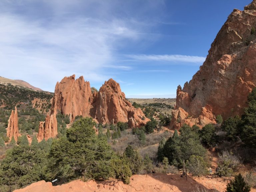
[[109, 78], [104, 68], [130, 70], [109, 63], [115, 60], [115, 44], [139, 36], [121, 20], [77, 18], [45, 27], [40, 21], [1, 14], [0, 25], [1, 75], [29, 82], [35, 76], [33, 84], [45, 90], [67, 75], [82, 73], [86, 80], [104, 82]]

